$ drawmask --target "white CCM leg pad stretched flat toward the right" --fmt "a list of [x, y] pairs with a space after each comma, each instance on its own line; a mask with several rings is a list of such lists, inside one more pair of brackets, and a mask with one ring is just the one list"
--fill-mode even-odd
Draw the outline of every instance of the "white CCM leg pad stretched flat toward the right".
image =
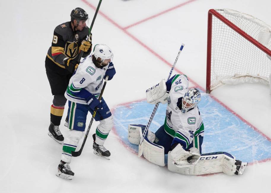
[[201, 154], [195, 166], [180, 168], [174, 164], [171, 152], [168, 152], [168, 170], [184, 175], [204, 175], [223, 172], [234, 175], [236, 171], [235, 157], [227, 152]]

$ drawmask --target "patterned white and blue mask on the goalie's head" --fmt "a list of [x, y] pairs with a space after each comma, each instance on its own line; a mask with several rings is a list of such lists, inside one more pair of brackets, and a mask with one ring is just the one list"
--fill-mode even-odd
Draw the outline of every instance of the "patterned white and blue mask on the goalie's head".
[[181, 112], [185, 113], [189, 109], [194, 108], [201, 100], [200, 98], [200, 91], [195, 88], [189, 89], [185, 94], [182, 99], [182, 108]]

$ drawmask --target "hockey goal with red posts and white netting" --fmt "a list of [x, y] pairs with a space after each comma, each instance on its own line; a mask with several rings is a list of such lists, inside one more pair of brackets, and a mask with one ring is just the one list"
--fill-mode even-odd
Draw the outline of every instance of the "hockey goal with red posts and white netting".
[[206, 93], [223, 84], [270, 84], [271, 27], [231, 9], [208, 12]]

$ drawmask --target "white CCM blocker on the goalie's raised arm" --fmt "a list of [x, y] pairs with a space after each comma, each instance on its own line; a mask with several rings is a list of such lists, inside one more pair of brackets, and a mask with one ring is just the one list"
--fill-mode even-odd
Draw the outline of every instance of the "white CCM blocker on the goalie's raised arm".
[[150, 104], [156, 104], [161, 102], [162, 104], [167, 103], [169, 92], [167, 91], [167, 86], [165, 79], [162, 79], [160, 83], [146, 90], [147, 102]]

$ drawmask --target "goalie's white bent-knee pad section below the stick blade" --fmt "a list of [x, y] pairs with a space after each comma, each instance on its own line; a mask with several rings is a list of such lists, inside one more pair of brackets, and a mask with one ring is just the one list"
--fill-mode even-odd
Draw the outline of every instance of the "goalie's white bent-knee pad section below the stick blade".
[[142, 145], [143, 156], [146, 160], [156, 165], [165, 166], [164, 147], [152, 143], [147, 136], [145, 136]]

